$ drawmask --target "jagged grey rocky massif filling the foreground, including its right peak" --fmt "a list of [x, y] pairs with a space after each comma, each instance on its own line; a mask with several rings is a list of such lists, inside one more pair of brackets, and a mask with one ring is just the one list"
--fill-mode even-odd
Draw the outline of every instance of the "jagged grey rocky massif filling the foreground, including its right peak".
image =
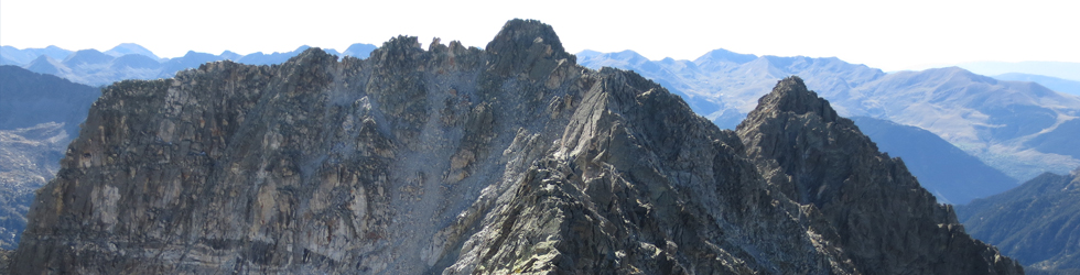
[[[846, 121], [788, 94], [799, 100], [763, 112]], [[536, 21], [508, 22], [485, 50], [398, 37], [367, 59], [212, 63], [105, 90], [39, 191], [12, 271], [1020, 273], [872, 145], [852, 153], [879, 165], [821, 170], [854, 177], [847, 189], [801, 196], [838, 183], [780, 173], [844, 163], [791, 165], [789, 147], [739, 134], [871, 143], [853, 128], [768, 127], [785, 119], [722, 131], [636, 74], [577, 66]], [[889, 228], [896, 213], [915, 226]]]

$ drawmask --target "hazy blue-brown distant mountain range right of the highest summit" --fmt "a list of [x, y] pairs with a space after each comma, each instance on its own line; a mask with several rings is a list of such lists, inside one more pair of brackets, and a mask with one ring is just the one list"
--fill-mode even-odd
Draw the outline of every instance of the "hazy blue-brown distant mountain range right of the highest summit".
[[715, 50], [694, 61], [649, 61], [633, 51], [577, 54], [586, 67], [631, 69], [682, 96], [721, 128], [734, 128], [786, 76], [798, 75], [842, 116], [926, 129], [1013, 178], [1080, 166], [1080, 97], [958, 67], [886, 74], [835, 57], [756, 56]]

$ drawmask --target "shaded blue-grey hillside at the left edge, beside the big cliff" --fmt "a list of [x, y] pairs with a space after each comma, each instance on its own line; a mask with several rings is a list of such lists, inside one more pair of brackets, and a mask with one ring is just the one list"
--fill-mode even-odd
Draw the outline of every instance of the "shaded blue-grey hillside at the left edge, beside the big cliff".
[[0, 249], [14, 249], [34, 190], [45, 185], [100, 91], [0, 66]]

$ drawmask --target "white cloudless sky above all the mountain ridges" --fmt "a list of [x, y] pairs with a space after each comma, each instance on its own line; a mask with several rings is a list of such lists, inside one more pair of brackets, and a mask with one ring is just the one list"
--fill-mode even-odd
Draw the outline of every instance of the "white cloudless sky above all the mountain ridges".
[[344, 51], [399, 34], [483, 47], [514, 18], [571, 53], [694, 59], [726, 48], [835, 56], [885, 70], [976, 61], [1080, 62], [1080, 1], [60, 1], [0, 2], [0, 44], [76, 51], [140, 44], [162, 57]]

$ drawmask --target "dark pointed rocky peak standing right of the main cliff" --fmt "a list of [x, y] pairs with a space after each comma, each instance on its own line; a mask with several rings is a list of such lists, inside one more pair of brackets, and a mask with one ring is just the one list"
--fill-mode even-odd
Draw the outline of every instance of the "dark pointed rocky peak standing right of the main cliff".
[[770, 186], [812, 206], [828, 240], [874, 274], [1014, 274], [1020, 268], [971, 239], [951, 206], [938, 205], [904, 162], [878, 153], [855, 124], [802, 79], [779, 81], [738, 127]]

